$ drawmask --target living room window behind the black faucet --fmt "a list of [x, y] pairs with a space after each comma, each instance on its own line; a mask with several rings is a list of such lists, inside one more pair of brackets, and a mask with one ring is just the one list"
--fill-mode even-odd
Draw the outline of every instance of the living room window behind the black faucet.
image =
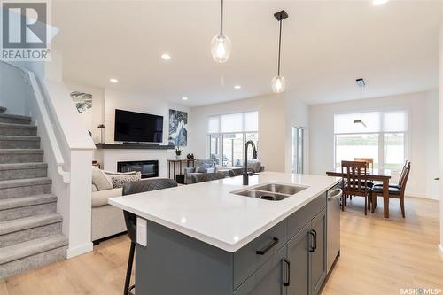
[[[229, 113], [211, 116], [207, 119], [209, 157], [216, 165], [241, 167], [245, 143], [252, 140], [259, 143], [259, 113]], [[248, 157], [253, 159], [253, 153]]]

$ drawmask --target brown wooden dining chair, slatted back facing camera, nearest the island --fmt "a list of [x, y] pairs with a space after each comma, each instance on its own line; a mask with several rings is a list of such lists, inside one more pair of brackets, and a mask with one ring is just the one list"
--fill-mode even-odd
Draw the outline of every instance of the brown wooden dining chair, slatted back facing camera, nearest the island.
[[364, 214], [368, 214], [370, 200], [367, 165], [366, 162], [341, 161], [342, 211], [345, 211], [346, 198], [359, 196], [364, 198]]

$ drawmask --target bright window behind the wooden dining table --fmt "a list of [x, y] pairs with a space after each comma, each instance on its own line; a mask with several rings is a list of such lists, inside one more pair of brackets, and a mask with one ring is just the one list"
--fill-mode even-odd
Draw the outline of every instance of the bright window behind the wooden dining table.
[[347, 113], [334, 116], [335, 165], [372, 158], [375, 168], [400, 170], [407, 152], [406, 111]]

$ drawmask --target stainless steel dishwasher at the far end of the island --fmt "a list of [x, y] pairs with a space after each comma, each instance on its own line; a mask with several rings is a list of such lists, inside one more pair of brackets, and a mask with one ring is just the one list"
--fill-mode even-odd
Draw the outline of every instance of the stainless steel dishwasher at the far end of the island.
[[327, 207], [327, 270], [334, 264], [334, 261], [340, 255], [340, 199], [343, 190], [340, 186], [328, 191], [328, 207]]

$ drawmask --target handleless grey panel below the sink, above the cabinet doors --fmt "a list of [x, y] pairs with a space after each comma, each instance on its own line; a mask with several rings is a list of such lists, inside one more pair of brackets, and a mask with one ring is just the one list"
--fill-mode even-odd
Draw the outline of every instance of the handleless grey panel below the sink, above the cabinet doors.
[[308, 222], [326, 208], [326, 193], [318, 196], [307, 205], [303, 206], [296, 213], [287, 218], [288, 221], [288, 240], [297, 235], [297, 233], [307, 225]]

